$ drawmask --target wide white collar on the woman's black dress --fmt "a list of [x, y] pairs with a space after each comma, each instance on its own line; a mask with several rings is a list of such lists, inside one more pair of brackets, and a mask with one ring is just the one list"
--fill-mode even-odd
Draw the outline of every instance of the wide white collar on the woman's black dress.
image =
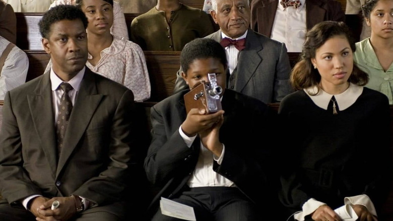
[[[324, 90], [319, 89], [319, 92], [316, 95], [310, 95], [310, 94], [315, 94], [315, 92], [318, 90], [317, 86], [305, 88], [303, 90], [317, 106], [319, 106], [322, 109], [328, 109], [328, 105], [333, 97], [333, 94], [329, 94]], [[350, 83], [348, 89], [345, 90], [343, 93], [335, 94], [334, 96], [339, 106], [339, 110], [344, 111], [352, 104], [354, 104], [355, 101], [360, 96], [360, 94], [362, 94], [362, 92], [363, 92], [362, 86], [358, 86], [356, 84]]]

